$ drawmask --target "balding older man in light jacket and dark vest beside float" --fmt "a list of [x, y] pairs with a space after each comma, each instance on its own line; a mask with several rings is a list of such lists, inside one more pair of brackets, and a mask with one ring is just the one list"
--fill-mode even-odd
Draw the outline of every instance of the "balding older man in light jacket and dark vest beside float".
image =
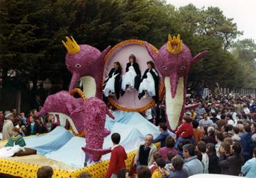
[[135, 159], [134, 166], [151, 166], [154, 162], [153, 154], [157, 152], [157, 148], [153, 144], [153, 135], [147, 134], [145, 136], [145, 143], [139, 145]]

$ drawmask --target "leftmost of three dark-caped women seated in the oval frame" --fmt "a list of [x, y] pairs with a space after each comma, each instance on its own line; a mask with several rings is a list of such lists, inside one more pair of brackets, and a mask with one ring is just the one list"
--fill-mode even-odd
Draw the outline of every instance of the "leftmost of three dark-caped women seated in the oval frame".
[[110, 95], [116, 95], [117, 100], [119, 99], [119, 80], [121, 76], [121, 64], [114, 62], [114, 67], [108, 73], [108, 78], [105, 79], [103, 84], [103, 95], [108, 97]]

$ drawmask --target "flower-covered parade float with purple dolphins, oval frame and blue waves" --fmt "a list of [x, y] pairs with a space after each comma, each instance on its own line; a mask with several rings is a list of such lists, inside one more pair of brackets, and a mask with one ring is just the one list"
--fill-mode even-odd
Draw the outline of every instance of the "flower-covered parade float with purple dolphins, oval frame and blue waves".
[[[108, 96], [108, 102], [118, 109], [110, 112], [102, 96], [103, 81], [112, 69], [112, 63], [119, 61], [125, 69], [128, 56], [133, 54], [144, 71], [147, 61], [155, 62], [160, 74], [157, 99], [162, 100], [165, 94], [167, 123], [171, 130], [176, 130], [186, 107], [189, 69], [207, 53], [204, 51], [192, 57], [179, 35], [169, 35], [167, 44], [160, 51], [152, 44], [137, 39], [120, 42], [113, 48], [108, 46], [103, 52], [87, 44], [78, 45], [73, 37], [67, 37], [63, 44], [67, 48], [65, 63], [72, 73], [69, 91], [60, 91], [46, 98], [37, 116], [56, 113], [60, 125], [64, 126], [69, 121], [71, 130], [56, 127], [49, 134], [26, 137], [26, 147], [37, 150], [37, 154], [1, 158], [0, 174], [32, 178], [36, 177], [40, 166], [51, 166], [53, 177], [76, 177], [80, 172], [89, 172], [94, 178], [104, 177], [112, 146], [110, 133], [114, 132], [121, 134], [120, 144], [128, 152], [126, 166], [130, 168], [144, 136], [160, 134], [155, 125], [139, 114], [153, 107], [155, 100], [151, 97], [137, 98], [138, 91], [134, 89], [120, 98]], [[75, 89], [79, 80], [83, 82], [83, 91]], [[74, 97], [76, 93], [80, 98]], [[2, 141], [1, 145], [4, 144]]]

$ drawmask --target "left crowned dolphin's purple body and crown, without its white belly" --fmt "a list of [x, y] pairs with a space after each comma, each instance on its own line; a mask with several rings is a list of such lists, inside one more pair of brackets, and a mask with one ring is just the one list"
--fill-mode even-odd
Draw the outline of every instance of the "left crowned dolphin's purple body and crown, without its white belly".
[[105, 50], [101, 53], [101, 51], [99, 51], [97, 48], [87, 44], [81, 44], [78, 47], [78, 44], [76, 44], [76, 41], [73, 38], [71, 42], [67, 40], [66, 45], [66, 66], [67, 69], [72, 73], [69, 91], [74, 89], [76, 83], [81, 77], [90, 76], [94, 78], [96, 83], [96, 91], [94, 96], [102, 99], [103, 88], [101, 81], [103, 79], [104, 57], [108, 51], [110, 51], [111, 46], [105, 48]]

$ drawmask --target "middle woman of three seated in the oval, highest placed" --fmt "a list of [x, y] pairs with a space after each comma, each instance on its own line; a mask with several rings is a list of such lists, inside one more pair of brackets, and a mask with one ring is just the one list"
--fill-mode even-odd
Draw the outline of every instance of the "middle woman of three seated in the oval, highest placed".
[[141, 73], [135, 55], [129, 55], [129, 62], [126, 64], [126, 73], [122, 77], [121, 89], [123, 91], [139, 89]]

